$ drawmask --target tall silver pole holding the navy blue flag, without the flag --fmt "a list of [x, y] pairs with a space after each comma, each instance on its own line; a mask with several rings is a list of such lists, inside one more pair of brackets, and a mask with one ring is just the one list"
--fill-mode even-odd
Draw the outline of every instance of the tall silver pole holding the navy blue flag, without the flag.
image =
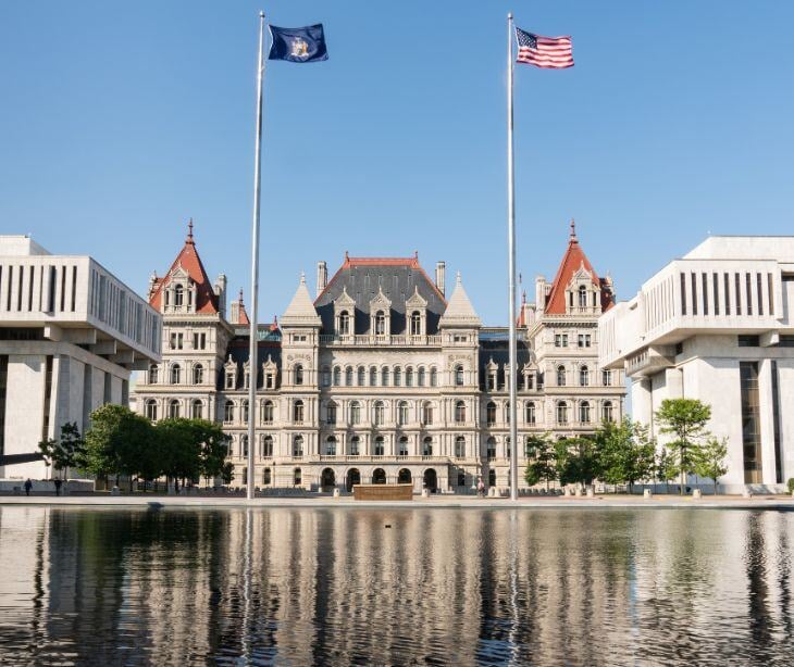
[[257, 306], [259, 300], [259, 190], [262, 167], [262, 84], [264, 81], [264, 12], [259, 12], [259, 60], [257, 61], [257, 142], [253, 149], [253, 224], [251, 232], [251, 315], [250, 348], [248, 354], [248, 479], [246, 480], [248, 500], [253, 500], [256, 425], [257, 425]]

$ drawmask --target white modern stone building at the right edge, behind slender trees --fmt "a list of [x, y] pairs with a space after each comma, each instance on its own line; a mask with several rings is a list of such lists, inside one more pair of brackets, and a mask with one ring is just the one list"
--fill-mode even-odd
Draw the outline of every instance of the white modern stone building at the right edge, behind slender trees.
[[[661, 401], [711, 406], [728, 438], [723, 490], [794, 477], [794, 237], [711, 237], [599, 319], [599, 360], [625, 368], [632, 413], [658, 436]], [[696, 481], [696, 480], [692, 480]]]

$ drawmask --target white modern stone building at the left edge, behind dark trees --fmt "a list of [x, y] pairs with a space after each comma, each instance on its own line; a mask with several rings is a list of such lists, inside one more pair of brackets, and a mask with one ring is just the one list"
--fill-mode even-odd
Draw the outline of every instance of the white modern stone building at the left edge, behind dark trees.
[[160, 314], [91, 257], [0, 236], [0, 477], [50, 477], [26, 461], [38, 442], [126, 405], [131, 370], [160, 360], [161, 330]]

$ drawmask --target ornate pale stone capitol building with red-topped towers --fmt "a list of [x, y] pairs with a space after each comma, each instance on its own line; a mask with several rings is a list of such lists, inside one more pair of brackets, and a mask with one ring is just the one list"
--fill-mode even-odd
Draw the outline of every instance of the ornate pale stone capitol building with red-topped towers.
[[[410, 482], [417, 492], [470, 493], [480, 478], [507, 487], [507, 327], [482, 325], [460, 275], [449, 295], [446, 284], [444, 262], [431, 278], [417, 255], [346, 253], [331, 279], [319, 262], [315, 297], [301, 276], [280, 320], [258, 327], [251, 408], [243, 294], [227, 312], [226, 279], [210, 281], [190, 225], [169, 272], [150, 279], [149, 303], [163, 316], [162, 362], [131, 403], [152, 420], [222, 424], [233, 486], [245, 483], [255, 446], [260, 488]], [[554, 280], [538, 277], [535, 302], [521, 304], [519, 465], [533, 433], [586, 435], [623, 417], [623, 372], [598, 366], [597, 320], [613, 303], [611, 280], [598, 277], [571, 224]]]

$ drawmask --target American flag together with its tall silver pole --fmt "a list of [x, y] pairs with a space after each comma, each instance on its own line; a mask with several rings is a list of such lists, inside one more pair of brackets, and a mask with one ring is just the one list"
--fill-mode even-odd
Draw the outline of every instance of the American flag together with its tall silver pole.
[[[513, 53], [513, 37], [518, 53]], [[509, 383], [510, 391], [510, 500], [519, 498], [519, 442], [516, 406], [516, 380], [518, 375], [518, 340], [516, 317], [516, 161], [513, 158], [512, 89], [513, 64], [524, 63], [547, 70], [565, 70], [573, 66], [573, 42], [570, 36], [543, 37], [522, 30], [507, 15], [507, 247], [509, 306]]]

